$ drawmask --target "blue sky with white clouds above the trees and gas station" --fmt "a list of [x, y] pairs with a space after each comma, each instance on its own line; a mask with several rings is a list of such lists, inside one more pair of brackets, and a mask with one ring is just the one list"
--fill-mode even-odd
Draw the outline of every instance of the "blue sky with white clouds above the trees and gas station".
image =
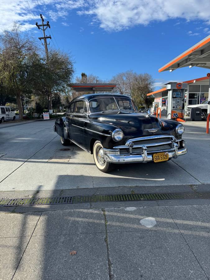
[[35, 21], [40, 23], [42, 10], [51, 25], [47, 35], [53, 32], [55, 46], [57, 42], [72, 54], [75, 75], [86, 72], [108, 80], [127, 70], [147, 72], [158, 89], [168, 80], [184, 81], [208, 72], [194, 67], [158, 73], [158, 68], [209, 35], [208, 1], [191, 0], [188, 7], [187, 0], [29, 0], [35, 21], [27, 0], [2, 1], [1, 29], [8, 28], [8, 19], [16, 20], [38, 37]]

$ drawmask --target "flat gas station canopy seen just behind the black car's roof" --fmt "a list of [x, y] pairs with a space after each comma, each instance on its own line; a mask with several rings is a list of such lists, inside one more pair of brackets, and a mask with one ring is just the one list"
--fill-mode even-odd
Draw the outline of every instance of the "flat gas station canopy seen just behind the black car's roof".
[[116, 84], [110, 84], [110, 83], [74, 83], [69, 84], [69, 86], [74, 91], [86, 91], [86, 92], [93, 92], [95, 91], [112, 91]]

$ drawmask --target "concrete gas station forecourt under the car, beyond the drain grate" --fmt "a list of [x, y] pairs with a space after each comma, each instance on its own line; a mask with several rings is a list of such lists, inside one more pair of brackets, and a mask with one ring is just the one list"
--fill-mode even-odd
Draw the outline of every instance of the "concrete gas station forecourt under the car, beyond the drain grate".
[[[100, 172], [93, 156], [72, 144], [68, 151], [53, 121], [0, 125], [0, 191], [167, 186], [210, 183], [210, 134], [205, 122], [185, 123], [188, 153], [162, 163], [117, 165]], [[176, 188], [176, 187], [175, 187]]]

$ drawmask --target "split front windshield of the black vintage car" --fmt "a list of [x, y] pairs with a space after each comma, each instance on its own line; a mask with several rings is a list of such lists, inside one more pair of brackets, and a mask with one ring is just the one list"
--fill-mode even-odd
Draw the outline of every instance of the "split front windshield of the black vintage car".
[[91, 113], [110, 111], [110, 110], [134, 110], [132, 102], [123, 97], [104, 97], [94, 98], [89, 101]]

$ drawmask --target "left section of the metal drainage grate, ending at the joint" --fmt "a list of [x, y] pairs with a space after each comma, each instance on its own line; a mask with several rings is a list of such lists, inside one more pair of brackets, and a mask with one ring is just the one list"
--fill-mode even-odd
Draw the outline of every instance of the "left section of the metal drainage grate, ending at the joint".
[[1, 199], [0, 206], [21, 206], [21, 205], [52, 205], [71, 204], [72, 196], [52, 197], [52, 198], [14, 198]]

